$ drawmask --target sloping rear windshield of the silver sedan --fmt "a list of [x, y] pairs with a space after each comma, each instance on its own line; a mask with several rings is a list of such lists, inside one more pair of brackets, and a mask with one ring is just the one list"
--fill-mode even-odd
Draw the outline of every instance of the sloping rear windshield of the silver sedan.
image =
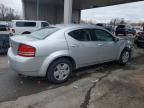
[[59, 29], [56, 27], [47, 27], [31, 33], [30, 36], [37, 39], [45, 39], [46, 37], [50, 36], [58, 30]]

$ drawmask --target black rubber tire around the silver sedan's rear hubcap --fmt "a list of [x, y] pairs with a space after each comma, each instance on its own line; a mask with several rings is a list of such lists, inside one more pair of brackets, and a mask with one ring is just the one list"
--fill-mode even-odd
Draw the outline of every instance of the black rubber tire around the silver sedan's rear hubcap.
[[57, 60], [55, 60], [54, 62], [51, 63], [51, 65], [49, 66], [49, 68], [47, 70], [47, 78], [51, 83], [60, 84], [60, 83], [63, 83], [65, 81], [67, 81], [70, 77], [70, 74], [69, 74], [68, 77], [65, 80], [60, 81], [60, 80], [55, 79], [54, 69], [60, 63], [68, 64], [69, 67], [70, 67], [70, 74], [72, 73], [73, 66], [72, 66], [72, 63], [68, 59], [65, 59], [65, 58], [57, 59]]

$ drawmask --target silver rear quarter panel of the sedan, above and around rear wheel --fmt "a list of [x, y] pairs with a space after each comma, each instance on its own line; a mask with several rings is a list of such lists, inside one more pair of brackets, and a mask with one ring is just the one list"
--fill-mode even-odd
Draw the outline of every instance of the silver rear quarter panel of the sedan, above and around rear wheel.
[[44, 40], [28, 42], [28, 45], [36, 48], [36, 57], [44, 57], [40, 74], [44, 76], [49, 65], [57, 58], [70, 56], [67, 42], [63, 32], [56, 32]]

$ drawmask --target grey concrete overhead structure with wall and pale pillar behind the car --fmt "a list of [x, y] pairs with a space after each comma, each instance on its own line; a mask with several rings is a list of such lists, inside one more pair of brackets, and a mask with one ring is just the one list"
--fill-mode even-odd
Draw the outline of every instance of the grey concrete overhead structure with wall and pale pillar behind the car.
[[24, 19], [47, 20], [51, 24], [80, 21], [82, 9], [142, 0], [22, 0]]

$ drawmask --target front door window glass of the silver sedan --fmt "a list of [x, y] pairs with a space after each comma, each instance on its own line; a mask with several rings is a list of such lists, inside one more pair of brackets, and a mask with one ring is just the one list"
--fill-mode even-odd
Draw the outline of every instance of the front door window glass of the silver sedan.
[[94, 34], [97, 41], [113, 41], [113, 36], [104, 30], [95, 29]]

